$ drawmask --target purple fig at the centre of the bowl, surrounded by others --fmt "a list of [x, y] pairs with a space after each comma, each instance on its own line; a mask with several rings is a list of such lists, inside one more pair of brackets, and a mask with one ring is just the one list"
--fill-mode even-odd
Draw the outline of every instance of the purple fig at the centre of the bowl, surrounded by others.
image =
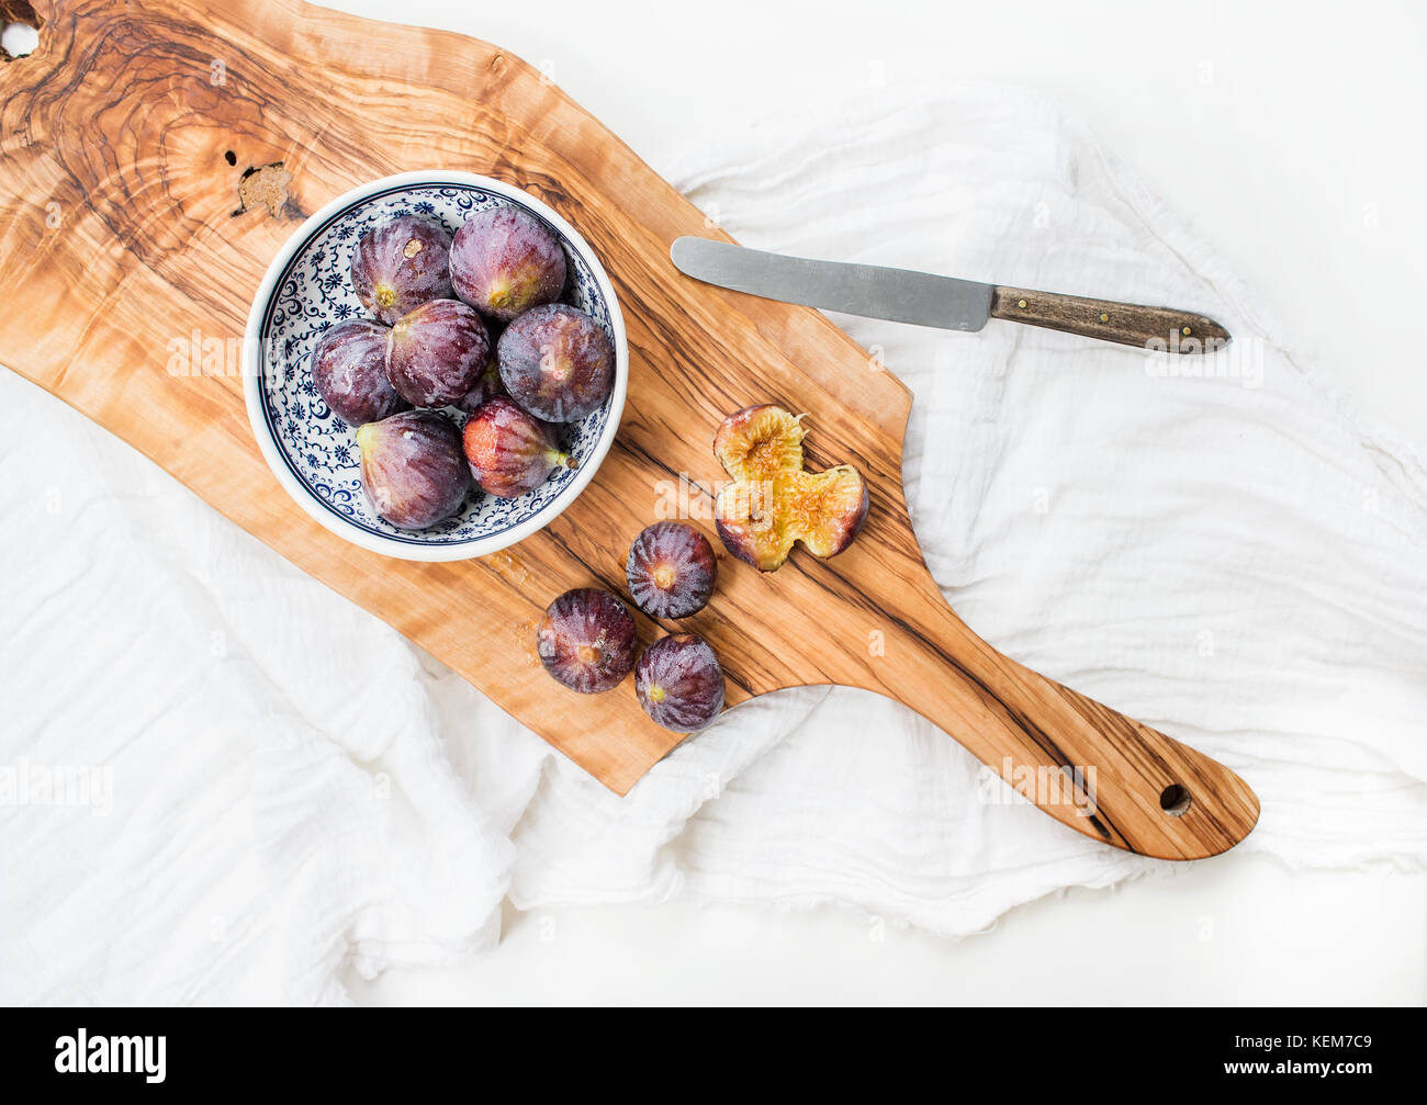
[[464, 399], [491, 362], [491, 336], [481, 317], [459, 299], [432, 299], [391, 328], [387, 378], [412, 406]]

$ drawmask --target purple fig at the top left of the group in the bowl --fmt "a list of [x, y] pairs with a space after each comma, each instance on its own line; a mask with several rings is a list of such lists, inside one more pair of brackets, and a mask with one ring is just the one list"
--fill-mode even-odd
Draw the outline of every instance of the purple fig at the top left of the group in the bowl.
[[451, 235], [402, 215], [367, 231], [352, 251], [352, 291], [388, 327], [421, 304], [451, 298]]

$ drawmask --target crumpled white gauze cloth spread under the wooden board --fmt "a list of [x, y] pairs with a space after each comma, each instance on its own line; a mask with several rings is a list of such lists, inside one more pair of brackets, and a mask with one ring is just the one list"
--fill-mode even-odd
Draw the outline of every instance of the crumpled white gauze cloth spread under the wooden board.
[[[1263, 800], [1240, 847], [1423, 863], [1423, 453], [1324, 388], [1080, 123], [892, 87], [645, 154], [748, 245], [1223, 321], [1234, 375], [1166, 378], [1012, 324], [836, 319], [916, 392], [913, 519], [973, 627], [1239, 770]], [[0, 1001], [340, 1002], [348, 961], [491, 947], [505, 895], [841, 903], [966, 934], [1156, 865], [843, 689], [739, 706], [618, 798], [10, 374], [0, 425]], [[57, 766], [108, 769], [108, 801], [43, 800]]]

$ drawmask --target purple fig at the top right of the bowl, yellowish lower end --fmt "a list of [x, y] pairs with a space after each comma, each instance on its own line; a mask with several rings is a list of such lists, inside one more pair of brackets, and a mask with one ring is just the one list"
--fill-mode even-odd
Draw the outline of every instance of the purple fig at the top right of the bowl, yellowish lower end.
[[565, 287], [565, 251], [518, 207], [478, 211], [451, 244], [451, 285], [482, 315], [509, 322], [554, 302]]

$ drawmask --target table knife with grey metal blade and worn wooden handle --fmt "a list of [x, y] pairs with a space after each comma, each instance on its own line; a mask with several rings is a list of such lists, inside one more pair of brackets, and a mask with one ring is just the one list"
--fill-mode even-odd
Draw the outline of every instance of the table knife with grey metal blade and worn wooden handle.
[[1214, 319], [1169, 307], [1007, 288], [906, 268], [812, 261], [711, 238], [676, 238], [669, 257], [685, 275], [721, 288], [919, 327], [976, 331], [989, 318], [1005, 318], [1177, 354], [1214, 352], [1230, 341]]

